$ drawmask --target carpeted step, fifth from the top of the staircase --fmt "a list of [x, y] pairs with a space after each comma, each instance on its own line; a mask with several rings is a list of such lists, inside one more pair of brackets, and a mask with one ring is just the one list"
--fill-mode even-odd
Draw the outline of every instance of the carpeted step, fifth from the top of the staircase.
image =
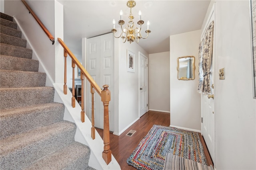
[[12, 57], [32, 59], [33, 52], [32, 49], [1, 43], [0, 54]]

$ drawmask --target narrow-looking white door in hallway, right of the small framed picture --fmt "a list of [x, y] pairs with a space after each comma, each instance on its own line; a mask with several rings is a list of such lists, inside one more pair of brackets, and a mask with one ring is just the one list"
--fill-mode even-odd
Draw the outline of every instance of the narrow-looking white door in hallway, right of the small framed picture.
[[148, 108], [148, 87], [147, 87], [147, 80], [148, 80], [148, 58], [139, 52], [140, 58], [140, 117], [147, 112]]

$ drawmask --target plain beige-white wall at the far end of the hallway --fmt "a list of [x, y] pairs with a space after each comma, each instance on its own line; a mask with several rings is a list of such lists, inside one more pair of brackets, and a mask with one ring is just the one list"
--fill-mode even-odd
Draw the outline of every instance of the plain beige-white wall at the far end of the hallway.
[[149, 55], [149, 109], [170, 113], [170, 51]]

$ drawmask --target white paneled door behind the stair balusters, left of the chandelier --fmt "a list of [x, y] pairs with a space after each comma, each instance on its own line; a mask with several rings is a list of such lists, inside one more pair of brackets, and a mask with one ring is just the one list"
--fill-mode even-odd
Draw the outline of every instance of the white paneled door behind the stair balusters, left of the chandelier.
[[[108, 107], [109, 129], [114, 131], [114, 39], [112, 33], [87, 39], [87, 71], [102, 88], [109, 86], [111, 100]], [[102, 88], [103, 89], [103, 88]], [[92, 119], [92, 95], [90, 83], [87, 82], [87, 114]], [[94, 93], [94, 123], [95, 127], [103, 129], [104, 107], [98, 93]]]

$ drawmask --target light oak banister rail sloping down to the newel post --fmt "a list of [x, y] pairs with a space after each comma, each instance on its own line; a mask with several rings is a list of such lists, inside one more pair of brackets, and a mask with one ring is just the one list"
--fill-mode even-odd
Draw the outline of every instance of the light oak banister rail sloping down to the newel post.
[[62, 45], [62, 47], [64, 48], [64, 50], [66, 51], [66, 53], [68, 53], [68, 55], [71, 57], [71, 59], [74, 61], [74, 63], [76, 63], [76, 65], [78, 66], [78, 68], [81, 70], [81, 72], [83, 73], [83, 75], [87, 78], [87, 80], [90, 82], [90, 84], [92, 84], [93, 88], [96, 90], [96, 92], [101, 96], [101, 89], [100, 86], [98, 86], [98, 84], [94, 81], [94, 79], [92, 78], [92, 76], [86, 71], [86, 69], [82, 66], [82, 64], [78, 61], [78, 59], [76, 59], [76, 57], [74, 56], [74, 54], [70, 51], [70, 49], [66, 46], [66, 44], [62, 41], [62, 39], [58, 38], [58, 41], [60, 43], [60, 45]]

